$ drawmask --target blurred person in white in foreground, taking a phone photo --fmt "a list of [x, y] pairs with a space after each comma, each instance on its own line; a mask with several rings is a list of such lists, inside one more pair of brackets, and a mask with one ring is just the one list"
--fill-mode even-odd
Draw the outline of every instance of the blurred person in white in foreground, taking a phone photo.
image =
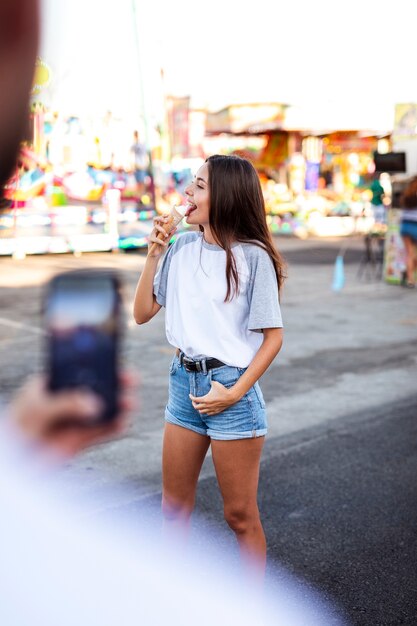
[[[13, 167], [25, 126], [38, 44], [38, 3], [0, 3], [0, 179]], [[128, 382], [125, 382], [125, 388]], [[123, 398], [122, 410], [129, 408]], [[274, 597], [246, 589], [207, 555], [163, 544], [151, 524], [86, 516], [39, 466], [114, 432], [91, 427], [91, 394], [52, 395], [32, 379], [0, 423], [0, 624], [22, 626], [200, 626], [342, 624], [281, 573]], [[72, 423], [68, 425], [68, 416]], [[123, 416], [121, 416], [123, 417]], [[219, 572], [221, 575], [219, 575]], [[276, 604], [275, 604], [276, 602]], [[209, 605], [209, 610], [207, 606]]]

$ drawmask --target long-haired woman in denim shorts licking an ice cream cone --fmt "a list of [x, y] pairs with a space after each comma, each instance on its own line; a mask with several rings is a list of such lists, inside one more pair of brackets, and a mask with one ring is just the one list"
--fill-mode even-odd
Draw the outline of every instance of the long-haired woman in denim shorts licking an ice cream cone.
[[[264, 571], [266, 543], [257, 506], [267, 431], [258, 379], [278, 354], [278, 289], [283, 261], [269, 234], [258, 176], [249, 161], [211, 156], [185, 193], [188, 224], [170, 247], [156, 218], [134, 302], [138, 324], [166, 307], [166, 334], [177, 348], [165, 412], [162, 510], [187, 526], [198, 476], [211, 445], [224, 515], [243, 560]], [[164, 233], [164, 241], [157, 238]]]

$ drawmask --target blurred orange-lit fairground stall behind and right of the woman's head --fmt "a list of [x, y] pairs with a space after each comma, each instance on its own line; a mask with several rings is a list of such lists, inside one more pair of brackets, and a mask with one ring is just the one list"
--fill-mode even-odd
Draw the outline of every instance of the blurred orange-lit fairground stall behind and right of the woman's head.
[[272, 232], [299, 237], [369, 232], [375, 221], [373, 153], [389, 149], [389, 135], [308, 127], [300, 119], [296, 125], [290, 110], [274, 103], [231, 106], [208, 116], [207, 133], [244, 136], [248, 146], [254, 137], [262, 139], [257, 151], [247, 153], [260, 174]]

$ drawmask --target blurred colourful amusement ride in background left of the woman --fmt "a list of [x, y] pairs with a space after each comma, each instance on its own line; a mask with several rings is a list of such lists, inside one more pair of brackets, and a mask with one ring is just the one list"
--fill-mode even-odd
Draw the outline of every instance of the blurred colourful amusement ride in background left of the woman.
[[0, 256], [82, 253], [147, 245], [156, 214], [149, 188], [139, 195], [134, 174], [86, 164], [64, 173], [45, 149], [44, 106], [39, 94], [50, 82], [38, 59], [30, 119], [32, 133], [0, 198]]

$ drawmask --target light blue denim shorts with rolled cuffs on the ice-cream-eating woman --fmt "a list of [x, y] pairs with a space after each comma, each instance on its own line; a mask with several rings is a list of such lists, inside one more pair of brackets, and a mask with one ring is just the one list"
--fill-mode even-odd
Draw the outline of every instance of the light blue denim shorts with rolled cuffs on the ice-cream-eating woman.
[[265, 401], [256, 382], [238, 402], [217, 415], [200, 415], [188, 394], [204, 396], [210, 391], [211, 381], [232, 387], [243, 374], [240, 367], [215, 367], [203, 372], [187, 372], [175, 356], [169, 371], [169, 398], [165, 419], [170, 424], [183, 426], [212, 439], [248, 439], [262, 437], [267, 432]]

